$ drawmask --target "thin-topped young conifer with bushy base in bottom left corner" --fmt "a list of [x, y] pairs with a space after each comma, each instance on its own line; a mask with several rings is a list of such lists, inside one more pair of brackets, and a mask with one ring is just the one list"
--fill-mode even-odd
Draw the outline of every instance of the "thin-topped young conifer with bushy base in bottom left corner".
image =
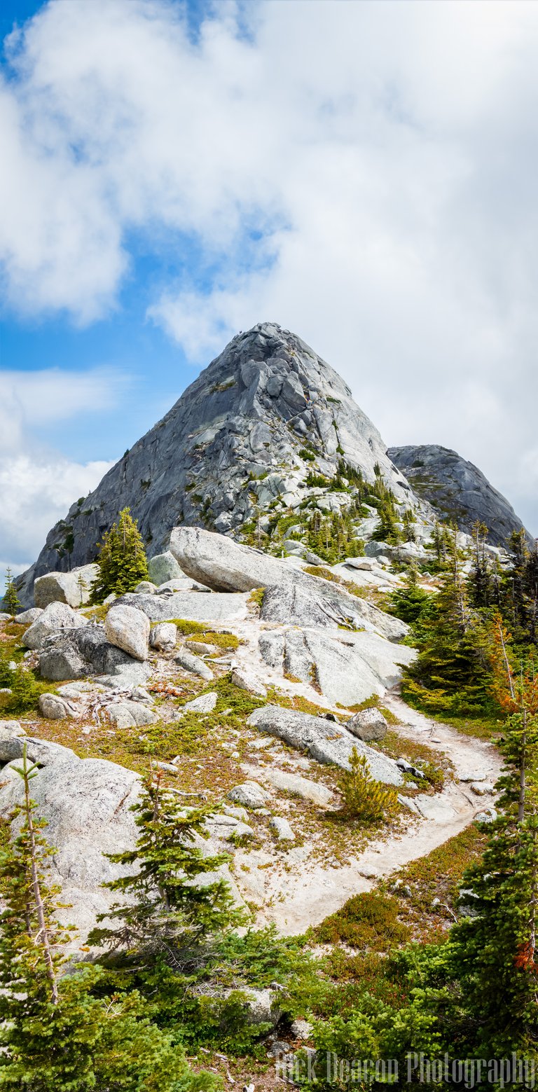
[[194, 1092], [213, 1089], [184, 1053], [151, 1021], [136, 990], [104, 996], [104, 973], [65, 971], [71, 930], [57, 921], [59, 891], [46, 877], [55, 854], [35, 816], [28, 763], [15, 768], [24, 803], [20, 832], [0, 853], [0, 1089], [10, 1092]]

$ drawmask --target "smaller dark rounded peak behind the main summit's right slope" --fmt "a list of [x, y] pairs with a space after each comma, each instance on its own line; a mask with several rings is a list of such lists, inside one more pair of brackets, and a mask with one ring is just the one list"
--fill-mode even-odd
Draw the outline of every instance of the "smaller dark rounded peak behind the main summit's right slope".
[[[512, 531], [523, 526], [506, 498], [456, 451], [425, 443], [388, 448], [386, 453], [439, 518], [455, 520], [461, 531], [468, 534], [475, 521], [480, 520], [489, 529], [488, 542], [505, 546]], [[528, 532], [527, 536], [530, 537]]]

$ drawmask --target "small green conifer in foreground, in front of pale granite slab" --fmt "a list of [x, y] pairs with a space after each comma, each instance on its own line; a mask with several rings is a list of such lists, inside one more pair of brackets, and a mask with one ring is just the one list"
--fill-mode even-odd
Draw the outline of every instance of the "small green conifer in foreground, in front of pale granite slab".
[[138, 866], [133, 874], [112, 880], [111, 891], [128, 894], [124, 904], [107, 913], [117, 928], [97, 928], [91, 943], [106, 943], [142, 954], [160, 953], [177, 969], [200, 957], [203, 942], [241, 924], [243, 915], [234, 909], [224, 879], [196, 882], [228, 858], [226, 854], [204, 856], [195, 845], [203, 835], [206, 808], [181, 805], [171, 791], [163, 788], [160, 775], [150, 775], [134, 805], [140, 836], [136, 846], [111, 854], [116, 864]]

